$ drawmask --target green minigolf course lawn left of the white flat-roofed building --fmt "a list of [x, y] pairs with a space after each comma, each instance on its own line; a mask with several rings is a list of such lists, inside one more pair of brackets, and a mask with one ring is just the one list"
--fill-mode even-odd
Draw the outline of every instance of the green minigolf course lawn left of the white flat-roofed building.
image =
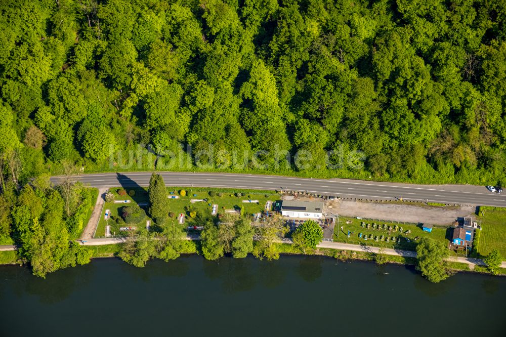
[[[181, 196], [180, 191], [181, 189], [185, 189], [187, 192], [186, 196]], [[118, 188], [111, 189], [111, 192], [115, 195], [115, 200], [131, 200], [131, 203], [128, 203], [128, 205], [133, 205], [135, 203], [139, 202], [148, 202], [148, 194], [146, 189], [143, 188], [137, 188], [135, 190], [135, 195], [131, 197], [130, 195], [126, 196], [119, 196], [117, 194]], [[127, 191], [130, 191], [130, 189], [126, 189]], [[223, 196], [215, 196], [210, 197], [209, 192], [215, 191], [215, 192], [222, 192]], [[264, 209], [265, 203], [267, 200], [275, 201], [279, 199], [279, 194], [275, 193], [274, 191], [257, 191], [257, 190], [232, 190], [232, 189], [220, 189], [220, 188], [181, 188], [181, 187], [167, 187], [168, 195], [177, 195], [179, 196], [178, 199], [168, 199], [168, 202], [170, 204], [169, 212], [174, 213], [176, 215], [175, 218], [168, 218], [167, 224], [170, 223], [177, 223], [177, 215], [178, 214], [185, 214], [186, 215], [186, 226], [191, 225], [202, 225], [207, 219], [212, 218], [212, 205], [218, 204], [218, 214], [225, 213], [225, 209], [238, 209], [239, 207], [244, 207], [244, 214], [245, 215], [252, 215], [258, 212], [261, 212]], [[170, 194], [170, 193], [173, 194]], [[234, 193], [241, 192], [241, 197], [236, 197]], [[194, 196], [195, 195], [195, 196]], [[195, 202], [191, 203], [191, 199], [204, 199], [206, 198], [207, 201], [201, 201], [201, 202]], [[244, 203], [242, 200], [258, 200], [258, 203]], [[209, 205], [210, 204], [210, 205]], [[124, 235], [125, 232], [120, 232], [119, 228], [120, 225], [116, 224], [115, 220], [120, 217], [120, 209], [126, 205], [126, 203], [112, 203], [112, 202], [106, 202], [104, 204], [104, 208], [102, 209], [102, 214], [100, 216], [99, 225], [97, 228], [97, 231], [95, 233], [95, 237], [103, 237], [105, 235], [105, 226], [108, 224], [111, 226], [111, 234], [114, 234], [116, 236], [118, 235]], [[143, 207], [146, 211], [148, 209], [148, 206]], [[111, 210], [111, 219], [106, 221], [104, 220], [105, 210], [110, 209]], [[197, 213], [197, 216], [195, 218], [190, 218], [190, 210], [195, 210]], [[146, 212], [147, 213], [147, 212]], [[146, 217], [145, 220], [142, 221], [142, 223], [135, 224], [134, 226], [137, 226], [137, 228], [145, 227], [146, 226], [146, 220], [150, 220], [149, 217]], [[151, 222], [151, 225], [153, 228], [156, 228], [156, 225]], [[125, 225], [122, 225], [125, 226]]]

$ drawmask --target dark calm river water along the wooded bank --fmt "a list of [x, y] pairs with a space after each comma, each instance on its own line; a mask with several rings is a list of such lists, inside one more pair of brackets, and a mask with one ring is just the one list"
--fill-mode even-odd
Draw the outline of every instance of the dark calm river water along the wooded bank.
[[506, 278], [324, 257], [0, 267], [0, 336], [504, 336]]

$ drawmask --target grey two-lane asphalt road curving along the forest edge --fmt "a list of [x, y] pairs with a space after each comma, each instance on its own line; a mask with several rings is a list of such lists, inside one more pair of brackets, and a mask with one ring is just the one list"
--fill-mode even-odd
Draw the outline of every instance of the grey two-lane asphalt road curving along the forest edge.
[[[247, 174], [159, 172], [167, 186], [224, 187], [232, 189], [289, 190], [321, 195], [372, 200], [431, 201], [506, 207], [506, 195], [489, 192], [484, 186], [410, 185], [348, 179], [310, 179]], [[100, 173], [74, 179], [92, 187], [148, 186], [151, 172]], [[59, 177], [51, 181], [58, 184]]]

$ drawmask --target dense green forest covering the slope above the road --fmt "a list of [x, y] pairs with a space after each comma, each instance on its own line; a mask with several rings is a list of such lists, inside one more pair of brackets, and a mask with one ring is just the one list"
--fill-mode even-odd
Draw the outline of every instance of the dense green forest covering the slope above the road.
[[[4, 0], [0, 11], [3, 191], [64, 160], [198, 170], [168, 164], [179, 144], [193, 155], [212, 144], [207, 171], [506, 184], [504, 0]], [[147, 160], [145, 147], [165, 156]]]

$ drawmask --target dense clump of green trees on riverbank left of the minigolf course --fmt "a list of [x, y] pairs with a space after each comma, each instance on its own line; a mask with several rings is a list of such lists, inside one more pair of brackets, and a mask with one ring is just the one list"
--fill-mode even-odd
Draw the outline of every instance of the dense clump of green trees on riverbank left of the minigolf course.
[[[28, 262], [37, 276], [90, 261], [89, 251], [72, 241], [88, 222], [96, 189], [63, 182], [34, 180], [22, 188], [9, 182], [0, 196], [0, 238], [15, 244], [16, 259]], [[4, 259], [14, 257], [6, 253]]]

